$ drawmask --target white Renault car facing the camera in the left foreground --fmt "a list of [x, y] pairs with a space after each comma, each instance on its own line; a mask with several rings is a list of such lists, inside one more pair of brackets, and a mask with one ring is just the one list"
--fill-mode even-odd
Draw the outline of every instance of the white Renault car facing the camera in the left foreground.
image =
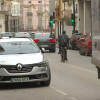
[[37, 44], [28, 38], [0, 40], [0, 83], [40, 82], [49, 86], [50, 67]]

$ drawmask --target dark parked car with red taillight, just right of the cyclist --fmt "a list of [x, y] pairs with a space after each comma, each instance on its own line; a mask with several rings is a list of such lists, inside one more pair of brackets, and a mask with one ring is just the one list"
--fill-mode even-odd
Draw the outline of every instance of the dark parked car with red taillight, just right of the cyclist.
[[82, 33], [74, 33], [71, 35], [69, 39], [69, 48], [71, 48], [72, 50], [76, 48], [76, 41], [80, 38], [81, 35]]

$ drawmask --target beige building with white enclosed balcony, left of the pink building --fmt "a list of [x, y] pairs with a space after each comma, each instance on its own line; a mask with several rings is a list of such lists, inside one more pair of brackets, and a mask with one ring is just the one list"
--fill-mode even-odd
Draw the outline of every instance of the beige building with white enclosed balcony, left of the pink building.
[[0, 32], [23, 30], [23, 12], [17, 0], [0, 2]]

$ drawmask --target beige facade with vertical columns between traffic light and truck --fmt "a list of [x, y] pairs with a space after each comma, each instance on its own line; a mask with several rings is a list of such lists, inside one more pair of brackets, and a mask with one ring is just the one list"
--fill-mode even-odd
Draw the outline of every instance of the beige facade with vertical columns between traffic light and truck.
[[91, 33], [91, 0], [78, 0], [79, 27], [81, 33]]

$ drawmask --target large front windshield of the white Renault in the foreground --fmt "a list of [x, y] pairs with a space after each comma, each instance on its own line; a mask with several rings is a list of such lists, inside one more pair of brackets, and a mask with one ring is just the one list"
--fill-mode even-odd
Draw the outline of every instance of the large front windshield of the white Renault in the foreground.
[[[27, 48], [27, 49], [26, 49]], [[38, 53], [40, 49], [32, 42], [1, 42], [0, 55]]]

